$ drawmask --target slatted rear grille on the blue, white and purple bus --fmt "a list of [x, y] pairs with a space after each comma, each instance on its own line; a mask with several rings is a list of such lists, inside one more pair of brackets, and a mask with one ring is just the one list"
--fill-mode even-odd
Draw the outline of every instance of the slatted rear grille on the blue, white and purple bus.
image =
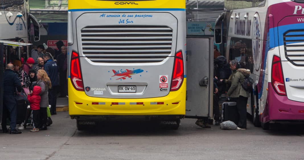
[[285, 57], [295, 66], [304, 66], [304, 30], [284, 33]]

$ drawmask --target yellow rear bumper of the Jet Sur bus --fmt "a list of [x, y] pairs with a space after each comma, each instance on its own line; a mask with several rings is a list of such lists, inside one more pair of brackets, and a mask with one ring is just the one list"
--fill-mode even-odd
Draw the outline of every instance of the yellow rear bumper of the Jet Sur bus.
[[[185, 115], [186, 110], [186, 78], [178, 91], [170, 92], [165, 97], [142, 99], [89, 97], [85, 92], [75, 90], [70, 79], [68, 79], [68, 94], [70, 116]], [[134, 104], [136, 102], [140, 104]], [[172, 104], [177, 102], [178, 104]]]

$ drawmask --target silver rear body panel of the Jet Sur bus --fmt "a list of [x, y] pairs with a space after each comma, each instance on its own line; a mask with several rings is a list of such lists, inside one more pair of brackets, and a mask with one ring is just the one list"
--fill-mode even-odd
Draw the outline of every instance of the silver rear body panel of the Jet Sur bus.
[[[105, 17], [102, 17], [103, 14]], [[128, 18], [124, 18], [124, 23], [121, 22], [124, 14], [127, 16], [146, 14], [152, 15], [152, 17], [136, 18], [133, 23], [126, 24]], [[120, 17], [106, 17], [106, 15], [119, 15]], [[186, 25], [178, 26], [178, 21], [181, 21], [181, 24], [185, 21], [185, 11], [72, 11], [69, 17], [72, 20], [68, 23], [68, 33], [73, 33], [73, 36], [69, 35], [68, 41], [73, 43], [68, 46], [68, 61], [71, 60], [72, 51], [79, 54], [84, 87], [90, 88], [89, 91], [85, 91], [86, 95], [102, 98], [151, 98], [164, 97], [169, 94], [175, 53], [183, 52], [184, 64], [186, 59]], [[121, 31], [116, 32], [116, 29], [121, 30], [122, 26], [134, 32], [128, 34]], [[142, 28], [141, 26], [148, 27]], [[151, 36], [152, 33], [146, 34], [145, 30], [151, 29], [150, 26], [160, 32], [154, 32], [153, 36]], [[107, 29], [107, 27], [111, 29]], [[142, 31], [137, 32], [138, 27]], [[168, 34], [162, 32], [162, 30], [168, 30], [168, 28], [172, 30], [171, 40], [170, 37], [169, 40], [168, 37], [161, 40], [159, 38], [161, 36], [157, 36], [157, 34]], [[96, 32], [97, 34], [94, 34]], [[134, 34], [140, 36], [133, 36]], [[126, 43], [125, 37], [128, 35], [132, 35], [129, 36], [129, 39], [134, 44], [124, 45]], [[150, 35], [150, 38], [158, 39], [158, 41], [147, 40], [150, 46], [145, 46], [147, 43], [143, 41], [144, 38], [141, 38], [141, 36], [147, 35]], [[92, 41], [82, 41], [83, 36], [92, 36], [90, 38]], [[100, 37], [106, 37], [106, 40], [102, 41]], [[117, 40], [115, 37], [120, 37], [121, 40]], [[111, 44], [113, 42], [116, 46]], [[165, 43], [165, 45], [161, 43]], [[171, 49], [168, 49], [168, 47], [171, 47]], [[147, 53], [140, 55], [140, 59], [134, 58], [134, 56], [145, 51]], [[107, 53], [102, 54], [105, 52]], [[123, 56], [116, 56], [123, 52]], [[151, 56], [154, 56], [154, 58], [150, 58]], [[68, 64], [68, 70], [70, 70], [70, 64]], [[126, 72], [135, 72], [135, 74], [119, 76]], [[185, 65], [184, 74], [186, 75]], [[70, 72], [68, 72], [68, 76], [70, 76]], [[161, 90], [160, 76], [168, 76], [168, 88], [165, 88], [165, 90]], [[111, 83], [117, 85], [109, 85]], [[143, 83], [147, 85], [143, 85]], [[133, 86], [134, 84], [136, 84], [136, 93], [118, 93], [118, 86]]]

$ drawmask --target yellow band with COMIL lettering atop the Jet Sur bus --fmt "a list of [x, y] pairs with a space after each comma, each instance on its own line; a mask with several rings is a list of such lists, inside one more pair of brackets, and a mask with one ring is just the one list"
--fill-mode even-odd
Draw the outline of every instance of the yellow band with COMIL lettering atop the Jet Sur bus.
[[105, 1], [69, 0], [68, 9], [185, 9], [185, 0]]

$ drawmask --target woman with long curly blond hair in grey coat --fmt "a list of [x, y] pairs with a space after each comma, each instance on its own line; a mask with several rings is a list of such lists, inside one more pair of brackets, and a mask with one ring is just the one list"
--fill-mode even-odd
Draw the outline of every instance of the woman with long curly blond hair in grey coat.
[[[41, 87], [40, 101], [40, 123], [39, 130], [47, 130], [47, 107], [49, 107], [48, 90], [52, 88], [51, 80], [45, 70], [37, 72], [37, 86]], [[36, 127], [37, 128], [37, 127]]]

